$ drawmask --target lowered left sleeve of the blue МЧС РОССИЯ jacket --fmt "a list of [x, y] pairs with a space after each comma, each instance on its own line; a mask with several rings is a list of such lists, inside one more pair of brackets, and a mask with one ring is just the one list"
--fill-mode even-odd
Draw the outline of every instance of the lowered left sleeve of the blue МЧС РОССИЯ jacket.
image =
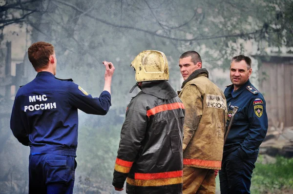
[[16, 97], [14, 100], [10, 118], [10, 129], [12, 130], [13, 135], [18, 139], [19, 142], [21, 142], [25, 146], [28, 146], [28, 132], [25, 130], [21, 114], [20, 100]]

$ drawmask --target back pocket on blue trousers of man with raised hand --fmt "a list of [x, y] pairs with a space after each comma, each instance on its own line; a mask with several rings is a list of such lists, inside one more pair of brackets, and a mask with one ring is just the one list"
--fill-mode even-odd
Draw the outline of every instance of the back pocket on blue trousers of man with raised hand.
[[67, 182], [66, 158], [45, 160], [46, 184], [52, 182]]

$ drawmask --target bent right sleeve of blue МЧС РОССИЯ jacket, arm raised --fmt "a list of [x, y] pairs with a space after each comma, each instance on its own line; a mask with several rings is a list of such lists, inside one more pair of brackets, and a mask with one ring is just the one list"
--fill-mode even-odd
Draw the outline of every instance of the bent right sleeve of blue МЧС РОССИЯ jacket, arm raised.
[[111, 95], [103, 91], [100, 97], [92, 97], [79, 85], [71, 82], [69, 86], [69, 103], [87, 114], [106, 115], [111, 106]]

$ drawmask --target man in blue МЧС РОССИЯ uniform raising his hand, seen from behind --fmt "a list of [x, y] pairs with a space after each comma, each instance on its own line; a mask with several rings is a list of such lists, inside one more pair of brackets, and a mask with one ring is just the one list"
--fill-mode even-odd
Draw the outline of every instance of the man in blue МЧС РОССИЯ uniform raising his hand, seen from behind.
[[32, 44], [28, 58], [38, 74], [18, 90], [10, 128], [23, 145], [30, 146], [29, 193], [72, 194], [78, 109], [94, 115], [108, 112], [115, 68], [111, 62], [103, 62], [104, 91], [100, 97], [92, 97], [72, 79], [55, 78], [57, 60], [50, 43]]

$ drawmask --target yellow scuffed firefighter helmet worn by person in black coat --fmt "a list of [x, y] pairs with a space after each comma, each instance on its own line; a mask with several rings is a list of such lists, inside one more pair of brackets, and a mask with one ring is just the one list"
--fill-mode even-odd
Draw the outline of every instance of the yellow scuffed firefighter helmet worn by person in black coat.
[[163, 52], [146, 50], [131, 62], [135, 69], [135, 79], [140, 81], [168, 80], [168, 61]]

